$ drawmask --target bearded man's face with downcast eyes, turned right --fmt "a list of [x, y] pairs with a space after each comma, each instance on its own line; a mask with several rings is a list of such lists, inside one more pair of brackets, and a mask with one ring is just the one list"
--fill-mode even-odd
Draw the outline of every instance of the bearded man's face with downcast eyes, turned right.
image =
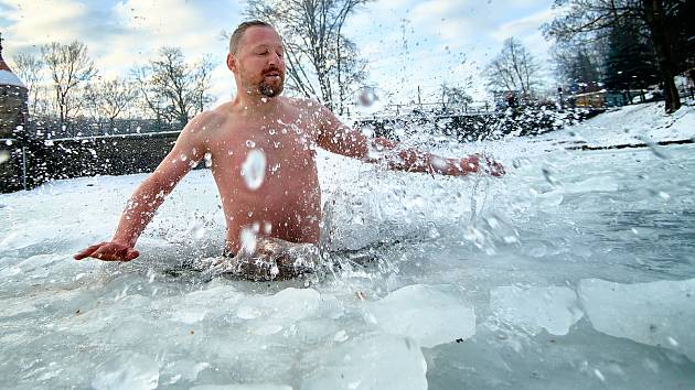
[[246, 91], [267, 97], [276, 97], [282, 93], [285, 48], [280, 35], [274, 29], [252, 26], [246, 30], [234, 57], [235, 73]]

